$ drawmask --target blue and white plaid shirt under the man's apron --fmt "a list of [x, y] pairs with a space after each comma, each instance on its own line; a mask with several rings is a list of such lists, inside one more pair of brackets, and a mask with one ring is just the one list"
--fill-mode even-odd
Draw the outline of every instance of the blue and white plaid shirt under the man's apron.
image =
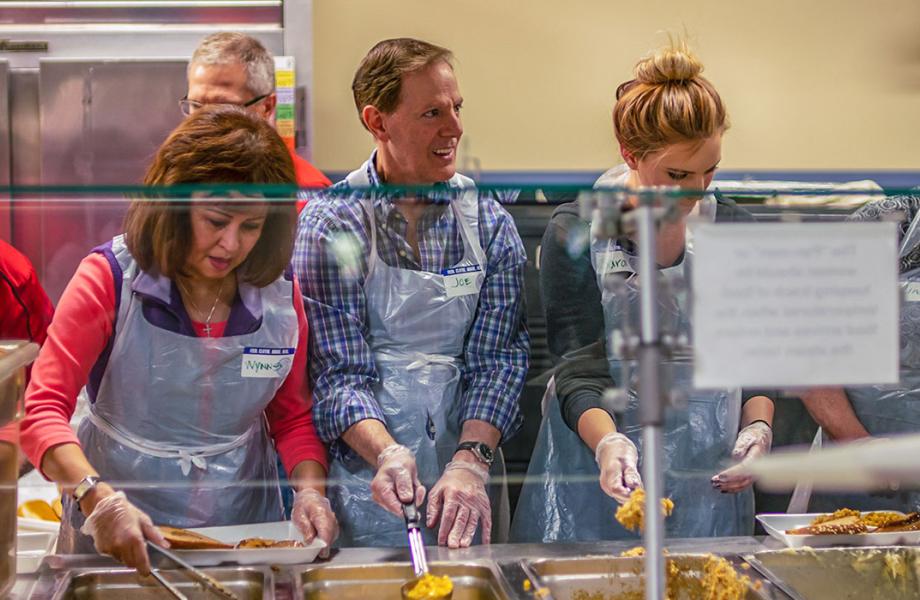
[[[375, 158], [372, 154], [368, 162], [372, 186], [380, 185]], [[367, 343], [363, 285], [370, 224], [361, 199], [368, 192], [348, 190], [342, 181], [310, 197], [294, 247], [294, 270], [310, 324], [313, 419], [329, 443], [363, 419], [386, 422], [372, 390], [378, 376]], [[460, 227], [446, 203], [435, 200], [422, 215], [417, 261], [393, 196], [373, 196], [377, 252], [388, 265], [440, 273], [463, 257]], [[521, 426], [518, 398], [529, 360], [523, 293], [527, 256], [511, 215], [485, 194], [479, 203], [479, 238], [487, 270], [465, 344], [460, 419], [486, 421], [507, 440]]]

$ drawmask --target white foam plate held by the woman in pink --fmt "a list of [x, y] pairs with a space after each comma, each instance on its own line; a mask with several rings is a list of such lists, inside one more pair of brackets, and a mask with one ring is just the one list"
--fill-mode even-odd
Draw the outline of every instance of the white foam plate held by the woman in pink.
[[[237, 544], [252, 537], [270, 540], [303, 540], [303, 536], [290, 521], [250, 523], [226, 527], [200, 527], [191, 529], [225, 544]], [[245, 550], [176, 550], [182, 558], [196, 567], [213, 567], [225, 563], [238, 565], [275, 564], [296, 565], [313, 562], [326, 544], [319, 539], [303, 548], [251, 548]]]

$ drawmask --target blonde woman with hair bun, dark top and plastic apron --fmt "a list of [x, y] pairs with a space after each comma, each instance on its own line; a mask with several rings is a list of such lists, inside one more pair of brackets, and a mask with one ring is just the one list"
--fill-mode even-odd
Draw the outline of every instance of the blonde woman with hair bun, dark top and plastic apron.
[[[640, 60], [620, 84], [613, 129], [624, 164], [595, 187], [677, 186], [699, 192], [678, 200], [677, 218], [659, 228], [657, 258], [664, 333], [689, 335], [685, 269], [692, 254], [686, 235], [691, 214], [751, 220], [733, 203], [705, 194], [722, 158], [728, 117], [703, 65], [683, 42]], [[630, 200], [634, 202], [634, 200]], [[579, 240], [584, 243], [578, 244]], [[642, 487], [642, 428], [635, 381], [625, 412], [603, 398], [623, 387], [621, 363], [606, 340], [624, 321], [638, 326], [635, 240], [594, 239], [576, 204], [559, 206], [543, 236], [540, 288], [550, 351], [560, 362], [547, 387], [544, 418], [521, 492], [511, 539], [515, 542], [634, 538], [614, 520], [619, 504]], [[603, 291], [602, 291], [603, 290]], [[631, 372], [635, 374], [635, 365]], [[688, 398], [669, 408], [664, 425], [664, 493], [674, 502], [668, 537], [753, 533], [751, 480], [732, 465], [768, 452], [773, 401], [756, 392], [696, 390], [692, 364], [663, 366], [670, 388]], [[742, 403], [742, 398], [747, 400]]]

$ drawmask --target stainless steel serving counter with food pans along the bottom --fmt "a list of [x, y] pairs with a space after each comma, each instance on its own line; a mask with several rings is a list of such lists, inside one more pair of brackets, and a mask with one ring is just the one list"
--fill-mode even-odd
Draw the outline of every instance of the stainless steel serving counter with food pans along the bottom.
[[[450, 575], [454, 600], [632, 600], [641, 597], [641, 559], [620, 557], [632, 547], [632, 542], [598, 542], [430, 548], [429, 562], [434, 573]], [[667, 548], [691, 576], [701, 572], [705, 561], [701, 554], [726, 558], [750, 578], [742, 597], [751, 600], [908, 600], [920, 593], [916, 547], [793, 550], [771, 538], [733, 537], [675, 539], [668, 541]], [[756, 569], [746, 568], [745, 562]], [[330, 560], [305, 565], [226, 565], [205, 570], [239, 598], [252, 600], [398, 599], [399, 587], [412, 577], [405, 548], [344, 549]], [[190, 598], [211, 597], [183, 574], [163, 573]], [[152, 578], [141, 581], [113, 560], [91, 555], [47, 557], [38, 573], [20, 576], [11, 596], [13, 600], [168, 597]]]

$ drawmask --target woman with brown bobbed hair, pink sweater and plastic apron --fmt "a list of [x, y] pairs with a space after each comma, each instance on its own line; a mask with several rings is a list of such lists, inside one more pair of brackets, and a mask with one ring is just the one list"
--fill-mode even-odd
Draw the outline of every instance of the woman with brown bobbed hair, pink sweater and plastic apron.
[[[144, 179], [293, 182], [274, 129], [221, 106], [177, 127]], [[154, 523], [282, 520], [276, 449], [305, 540], [335, 538], [307, 322], [288, 269], [295, 227], [293, 198], [136, 199], [124, 235], [77, 268], [35, 363], [22, 428], [26, 454], [65, 490], [59, 551], [95, 546], [146, 573], [145, 540], [166, 545]], [[90, 415], [74, 436], [84, 386]]]

